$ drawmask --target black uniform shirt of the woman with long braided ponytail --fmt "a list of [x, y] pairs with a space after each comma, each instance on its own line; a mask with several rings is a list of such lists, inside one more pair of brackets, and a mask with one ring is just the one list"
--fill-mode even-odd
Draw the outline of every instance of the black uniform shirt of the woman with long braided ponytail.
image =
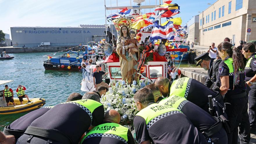
[[[227, 58], [225, 58], [225, 60], [227, 60], [228, 58], [230, 58], [229, 56]], [[235, 85], [233, 87], [233, 82], [234, 82], [234, 74], [229, 74], [229, 68], [227, 66], [227, 64], [224, 63], [224, 61], [221, 61], [220, 65], [219, 65], [219, 75], [218, 75], [218, 79], [220, 81], [220, 86], [221, 86], [221, 77], [222, 76], [229, 76], [229, 90], [227, 91], [227, 93], [225, 95], [232, 95], [232, 94], [240, 94], [246, 91], [245, 88], [245, 74], [244, 71], [242, 70], [241, 73], [239, 73], [239, 83], [238, 85]]]

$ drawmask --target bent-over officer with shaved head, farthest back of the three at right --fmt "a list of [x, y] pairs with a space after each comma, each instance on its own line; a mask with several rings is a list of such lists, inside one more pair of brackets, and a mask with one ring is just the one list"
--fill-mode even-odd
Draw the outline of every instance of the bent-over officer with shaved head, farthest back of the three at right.
[[[164, 97], [170, 95], [184, 97], [207, 112], [209, 112], [208, 95], [212, 95], [221, 106], [224, 106], [222, 96], [219, 93], [215, 93], [195, 79], [183, 77], [175, 81], [169, 81], [165, 77], [159, 77], [155, 84]], [[216, 105], [214, 109], [218, 116], [223, 114], [221, 107]]]

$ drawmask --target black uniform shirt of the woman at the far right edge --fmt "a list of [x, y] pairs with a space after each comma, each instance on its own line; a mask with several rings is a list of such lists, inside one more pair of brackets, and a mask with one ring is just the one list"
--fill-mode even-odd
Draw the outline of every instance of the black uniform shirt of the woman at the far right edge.
[[255, 76], [256, 74], [256, 58], [255, 58], [255, 53], [252, 54], [249, 58], [252, 58], [251, 62], [250, 62], [250, 68], [249, 67], [245, 67], [245, 81], [249, 81], [252, 77]]

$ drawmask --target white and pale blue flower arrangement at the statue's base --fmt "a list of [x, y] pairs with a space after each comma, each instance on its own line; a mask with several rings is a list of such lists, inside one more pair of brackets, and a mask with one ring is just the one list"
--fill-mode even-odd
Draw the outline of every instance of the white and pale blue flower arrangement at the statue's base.
[[133, 81], [131, 85], [127, 81], [111, 83], [109, 91], [102, 96], [101, 103], [105, 111], [115, 109], [121, 115], [121, 125], [133, 125], [134, 115], [137, 112], [134, 102], [134, 94], [149, 84], [148, 81]]

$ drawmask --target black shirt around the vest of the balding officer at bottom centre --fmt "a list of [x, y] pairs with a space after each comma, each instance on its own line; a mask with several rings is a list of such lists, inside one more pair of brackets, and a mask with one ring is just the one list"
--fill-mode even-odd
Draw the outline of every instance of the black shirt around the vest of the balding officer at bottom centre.
[[[110, 123], [110, 122], [103, 122], [104, 123]], [[134, 139], [131, 134], [131, 131], [127, 131], [127, 138], [128, 138], [128, 143], [127, 144], [134, 144]], [[115, 138], [115, 137], [105, 137], [105, 136], [93, 136], [90, 138], [86, 138], [82, 144], [87, 144], [87, 143], [97, 143], [97, 144], [125, 144], [122, 140]]]

